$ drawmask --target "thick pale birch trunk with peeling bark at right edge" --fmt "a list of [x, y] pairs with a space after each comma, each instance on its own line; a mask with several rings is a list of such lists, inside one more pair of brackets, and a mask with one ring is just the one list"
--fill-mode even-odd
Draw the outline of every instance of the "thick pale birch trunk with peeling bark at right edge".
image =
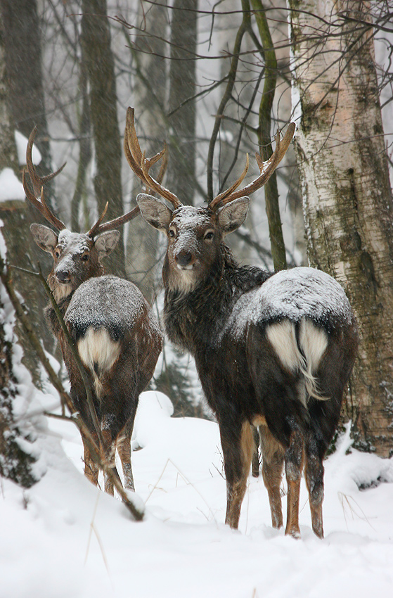
[[370, 3], [289, 0], [309, 262], [346, 288], [361, 343], [347, 398], [358, 447], [393, 447], [393, 204]]

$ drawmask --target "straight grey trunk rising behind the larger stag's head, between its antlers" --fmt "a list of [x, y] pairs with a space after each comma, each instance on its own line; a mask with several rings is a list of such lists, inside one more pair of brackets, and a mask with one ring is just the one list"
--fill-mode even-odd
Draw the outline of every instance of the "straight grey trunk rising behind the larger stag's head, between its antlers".
[[[195, 191], [195, 52], [198, 0], [174, 0], [169, 67], [168, 186], [183, 203]], [[183, 105], [182, 105], [183, 104]]]

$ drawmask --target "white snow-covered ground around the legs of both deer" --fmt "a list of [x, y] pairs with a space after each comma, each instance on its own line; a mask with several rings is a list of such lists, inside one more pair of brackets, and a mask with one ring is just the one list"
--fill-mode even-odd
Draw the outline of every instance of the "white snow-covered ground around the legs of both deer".
[[[30, 408], [54, 401], [37, 392]], [[86, 481], [77, 428], [39, 419], [45, 475], [30, 490], [1, 480], [0, 598], [392, 595], [392, 460], [345, 454], [349, 441], [341, 439], [326, 461], [324, 540], [311, 531], [304, 485], [302, 540], [273, 530], [261, 478], [250, 478], [233, 531], [224, 526], [217, 425], [171, 412], [165, 395], [141, 396], [133, 465], [142, 523]]]

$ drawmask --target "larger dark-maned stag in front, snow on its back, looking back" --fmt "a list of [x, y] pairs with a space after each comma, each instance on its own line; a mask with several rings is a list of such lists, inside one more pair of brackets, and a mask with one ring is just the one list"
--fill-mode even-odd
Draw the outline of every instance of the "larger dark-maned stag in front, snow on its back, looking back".
[[219, 424], [227, 486], [226, 523], [238, 527], [259, 427], [262, 475], [273, 527], [283, 525], [281, 477], [288, 484], [285, 533], [299, 537], [299, 485], [304, 465], [311, 523], [323, 537], [323, 457], [340, 416], [358, 333], [342, 287], [328, 274], [297, 267], [269, 274], [240, 266], [224, 236], [244, 222], [248, 195], [266, 184], [285, 155], [294, 125], [238, 189], [247, 172], [207, 207], [182, 205], [149, 174], [134, 111], [127, 112], [125, 153], [150, 189], [137, 202], [143, 218], [168, 238], [162, 270], [169, 339], [195, 357], [202, 388]]

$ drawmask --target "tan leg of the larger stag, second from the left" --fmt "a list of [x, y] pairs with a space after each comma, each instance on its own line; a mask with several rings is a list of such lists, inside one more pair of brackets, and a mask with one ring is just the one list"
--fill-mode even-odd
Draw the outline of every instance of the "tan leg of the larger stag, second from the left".
[[267, 426], [259, 426], [262, 447], [262, 477], [269, 495], [271, 523], [273, 528], [283, 527], [283, 511], [281, 509], [281, 479], [285, 450], [277, 442]]

